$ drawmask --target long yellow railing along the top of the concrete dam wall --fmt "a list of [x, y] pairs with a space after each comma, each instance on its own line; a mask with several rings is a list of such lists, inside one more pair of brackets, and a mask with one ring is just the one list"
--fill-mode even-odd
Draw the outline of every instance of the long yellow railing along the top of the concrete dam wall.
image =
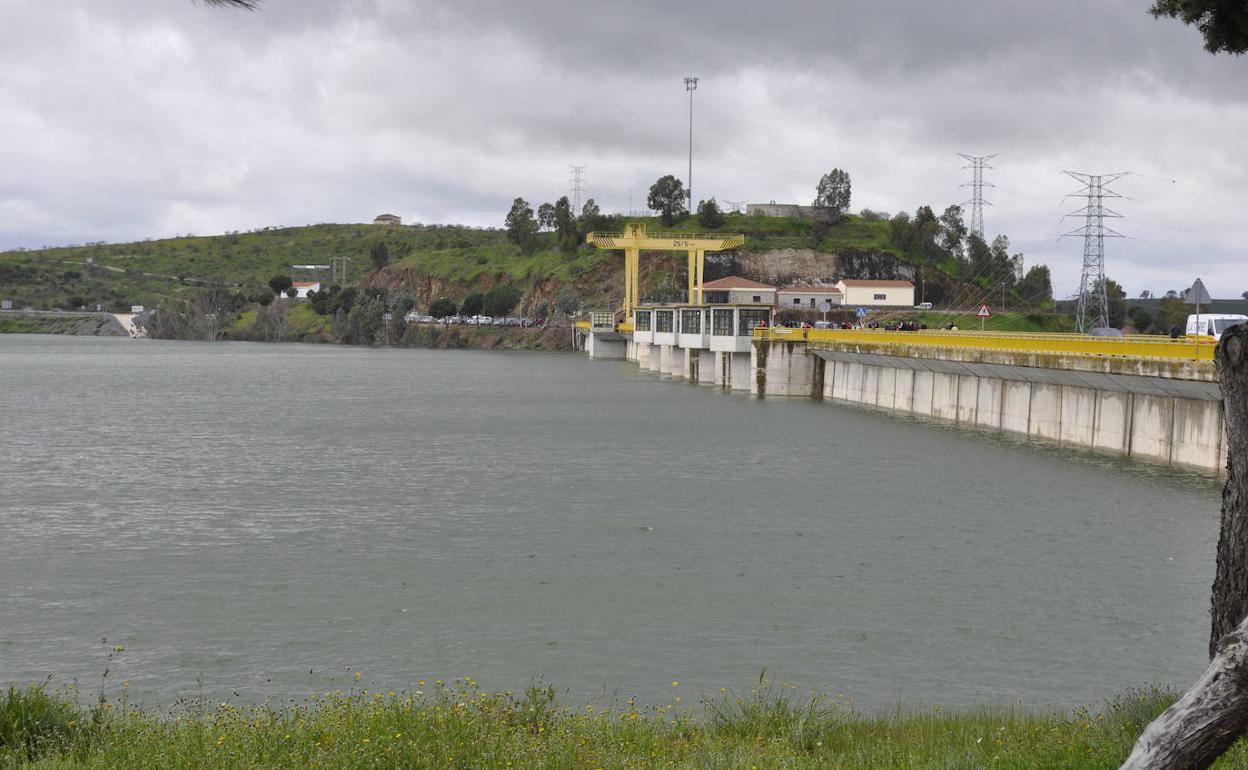
[[1030, 332], [890, 332], [884, 329], [754, 329], [755, 339], [790, 342], [860, 342], [880, 346], [930, 347], [975, 351], [1012, 351], [1065, 356], [1118, 356], [1124, 358], [1169, 358], [1213, 361], [1212, 339], [1171, 339], [1147, 334], [1090, 337], [1087, 334], [1041, 334]]

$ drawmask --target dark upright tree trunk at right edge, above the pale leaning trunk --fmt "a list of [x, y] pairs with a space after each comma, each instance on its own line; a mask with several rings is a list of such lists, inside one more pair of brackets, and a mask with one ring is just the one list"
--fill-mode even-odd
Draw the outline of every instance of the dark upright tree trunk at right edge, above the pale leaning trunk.
[[1217, 361], [1227, 421], [1227, 485], [1222, 489], [1222, 535], [1213, 580], [1211, 658], [1218, 641], [1248, 616], [1248, 324], [1223, 333]]

